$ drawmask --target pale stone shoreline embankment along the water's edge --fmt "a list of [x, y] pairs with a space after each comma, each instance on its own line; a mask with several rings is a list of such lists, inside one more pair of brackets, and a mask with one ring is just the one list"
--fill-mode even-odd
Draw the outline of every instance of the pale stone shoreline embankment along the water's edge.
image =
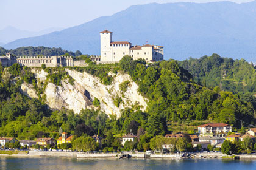
[[[180, 160], [180, 159], [222, 159], [222, 160], [234, 160], [232, 156], [239, 157], [240, 160], [256, 160], [256, 154], [241, 154], [241, 155], [230, 155], [222, 153], [199, 153], [191, 154], [190, 158], [180, 158], [177, 157], [177, 154], [152, 154], [150, 157], [146, 156], [145, 152], [124, 152], [122, 156], [128, 156], [129, 158], [150, 158], [150, 159], [171, 159], [171, 160]], [[84, 153], [84, 152], [58, 152], [58, 151], [29, 151], [27, 154], [20, 152], [18, 154], [0, 154], [0, 157], [71, 157], [71, 158], [119, 158], [121, 154], [119, 153]], [[127, 157], [124, 157], [127, 158]]]

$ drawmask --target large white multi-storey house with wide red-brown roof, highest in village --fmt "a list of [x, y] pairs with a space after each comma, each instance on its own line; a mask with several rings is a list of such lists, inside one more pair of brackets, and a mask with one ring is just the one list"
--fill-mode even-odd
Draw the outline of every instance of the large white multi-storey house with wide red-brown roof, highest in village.
[[226, 123], [207, 123], [198, 126], [198, 132], [201, 136], [225, 137], [228, 132], [232, 132], [232, 126]]

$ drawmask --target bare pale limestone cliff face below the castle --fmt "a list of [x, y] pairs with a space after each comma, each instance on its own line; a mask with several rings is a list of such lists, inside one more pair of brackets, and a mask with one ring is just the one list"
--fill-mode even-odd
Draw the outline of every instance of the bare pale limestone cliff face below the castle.
[[[48, 73], [43, 70], [32, 70], [38, 81], [46, 81]], [[114, 77], [111, 85], [104, 85], [99, 78], [94, 77], [88, 73], [80, 73], [75, 70], [66, 69], [66, 72], [75, 80], [74, 85], [68, 83], [68, 80], [62, 80], [62, 86], [56, 86], [53, 83], [48, 83], [44, 94], [46, 95], [46, 103], [51, 109], [61, 110], [63, 108], [73, 110], [79, 113], [82, 109], [94, 108], [92, 105], [94, 98], [100, 101], [102, 112], [106, 114], [116, 114], [120, 116], [121, 110], [125, 107], [131, 107], [133, 104], [139, 104], [141, 110], [145, 110], [147, 103], [146, 98], [138, 93], [138, 86], [134, 83], [129, 75], [118, 73], [117, 75], [111, 74]], [[124, 81], [130, 81], [129, 87], [126, 92], [121, 93], [119, 84]], [[21, 89], [24, 94], [29, 97], [37, 97], [33, 86], [26, 86], [23, 83]], [[33, 91], [35, 93], [33, 93]], [[117, 107], [114, 104], [116, 97], [120, 97], [122, 102]], [[38, 97], [37, 97], [38, 98]]]

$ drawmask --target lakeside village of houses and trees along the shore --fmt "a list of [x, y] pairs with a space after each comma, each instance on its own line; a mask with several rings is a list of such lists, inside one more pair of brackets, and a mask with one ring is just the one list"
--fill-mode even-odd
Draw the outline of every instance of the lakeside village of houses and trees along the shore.
[[[146, 154], [162, 153], [172, 154], [176, 152], [222, 152], [223, 154], [251, 153], [256, 150], [256, 128], [250, 128], [243, 132], [232, 132], [232, 126], [225, 123], [207, 123], [198, 126], [195, 134], [178, 132], [166, 134], [151, 139], [149, 146], [143, 146]], [[138, 152], [137, 144], [141, 140], [138, 135], [129, 133], [119, 138], [115, 147], [103, 148], [104, 138], [93, 135], [87, 137], [87, 142], [74, 140], [76, 137], [62, 132], [60, 137], [37, 138], [37, 140], [20, 140], [15, 137], [1, 137], [1, 150], [22, 151], [65, 151], [65, 152]], [[103, 142], [102, 142], [103, 141]], [[118, 144], [119, 143], [119, 144]], [[149, 150], [152, 149], [152, 150]], [[127, 151], [128, 150], [128, 151]]]

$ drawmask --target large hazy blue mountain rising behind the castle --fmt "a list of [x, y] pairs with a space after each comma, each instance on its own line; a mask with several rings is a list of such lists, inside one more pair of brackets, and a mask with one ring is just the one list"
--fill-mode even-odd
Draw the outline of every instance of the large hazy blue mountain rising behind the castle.
[[129, 41], [133, 45], [148, 41], [165, 46], [166, 60], [218, 53], [256, 61], [255, 28], [256, 1], [154, 3], [134, 5], [112, 16], [102, 16], [59, 32], [18, 39], [2, 47], [62, 47], [99, 55], [99, 32], [107, 29], [113, 32], [113, 41]]

